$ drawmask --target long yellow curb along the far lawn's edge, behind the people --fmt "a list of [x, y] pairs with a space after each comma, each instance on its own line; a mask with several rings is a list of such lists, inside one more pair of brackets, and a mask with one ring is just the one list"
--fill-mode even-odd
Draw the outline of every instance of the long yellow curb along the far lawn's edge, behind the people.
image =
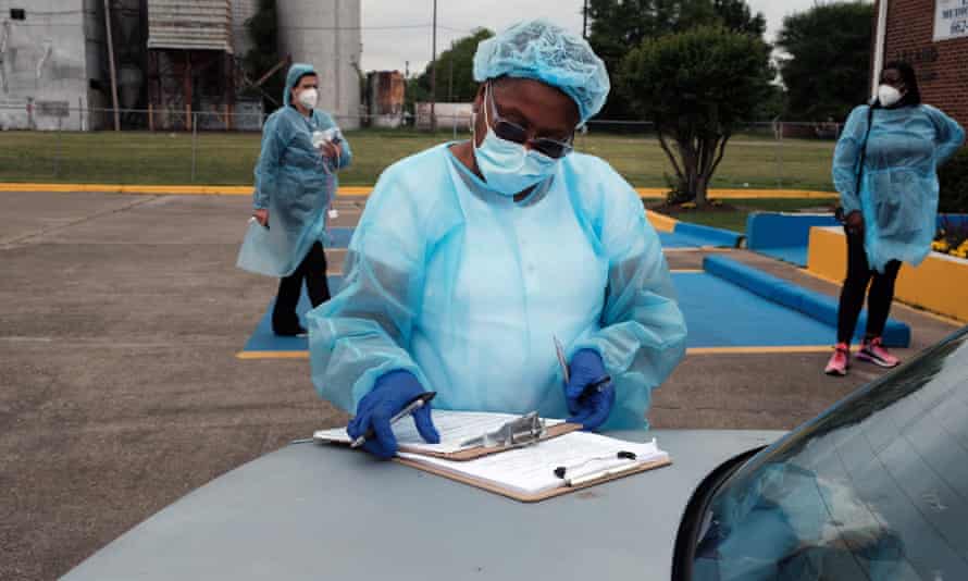
[[[338, 196], [369, 196], [373, 186], [342, 186]], [[139, 185], [139, 184], [0, 184], [0, 191], [96, 191], [102, 194], [148, 194], [178, 196], [251, 196], [252, 186], [195, 186], [195, 185]], [[668, 189], [640, 187], [635, 191], [641, 198], [665, 198]], [[816, 198], [834, 199], [831, 191], [803, 189], [710, 189], [710, 198]]]

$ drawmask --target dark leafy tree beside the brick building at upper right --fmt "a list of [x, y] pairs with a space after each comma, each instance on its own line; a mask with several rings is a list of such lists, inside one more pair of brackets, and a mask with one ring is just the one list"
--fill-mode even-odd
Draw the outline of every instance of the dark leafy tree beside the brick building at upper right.
[[842, 120], [869, 97], [873, 5], [820, 4], [783, 18], [777, 45], [793, 120]]

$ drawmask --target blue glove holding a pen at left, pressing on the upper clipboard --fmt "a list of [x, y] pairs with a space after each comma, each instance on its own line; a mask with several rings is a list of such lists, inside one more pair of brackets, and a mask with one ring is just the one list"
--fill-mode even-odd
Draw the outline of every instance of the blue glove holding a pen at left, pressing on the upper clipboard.
[[[390, 430], [389, 420], [422, 393], [423, 386], [409, 371], [397, 370], [381, 375], [370, 393], [360, 399], [357, 416], [346, 427], [346, 433], [356, 440], [373, 428], [375, 436], [367, 438], [363, 449], [380, 458], [393, 458], [397, 454], [397, 438]], [[431, 419], [430, 404], [413, 412], [413, 422], [429, 444], [440, 442], [440, 435]]]

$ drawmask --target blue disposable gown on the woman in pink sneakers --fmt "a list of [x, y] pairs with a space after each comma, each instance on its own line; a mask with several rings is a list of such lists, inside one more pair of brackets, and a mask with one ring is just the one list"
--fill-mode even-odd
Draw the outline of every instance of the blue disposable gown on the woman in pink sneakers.
[[938, 213], [938, 166], [965, 140], [961, 127], [933, 107], [876, 109], [857, 189], [868, 107], [847, 118], [833, 154], [833, 183], [845, 213], [864, 214], [868, 263], [918, 265], [931, 251]]

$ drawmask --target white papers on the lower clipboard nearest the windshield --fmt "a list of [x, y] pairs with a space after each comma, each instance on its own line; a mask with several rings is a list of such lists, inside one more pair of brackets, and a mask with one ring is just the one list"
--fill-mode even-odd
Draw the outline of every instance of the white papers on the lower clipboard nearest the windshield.
[[[619, 452], [631, 452], [635, 454], [635, 459], [618, 458]], [[631, 469], [669, 458], [666, 452], [658, 448], [655, 440], [640, 444], [588, 432], [571, 432], [534, 446], [469, 461], [445, 460], [404, 452], [399, 456], [523, 494], [537, 494], [566, 486], [566, 480], [555, 474], [558, 467], [564, 467], [567, 478], [573, 479], [605, 470]]]

